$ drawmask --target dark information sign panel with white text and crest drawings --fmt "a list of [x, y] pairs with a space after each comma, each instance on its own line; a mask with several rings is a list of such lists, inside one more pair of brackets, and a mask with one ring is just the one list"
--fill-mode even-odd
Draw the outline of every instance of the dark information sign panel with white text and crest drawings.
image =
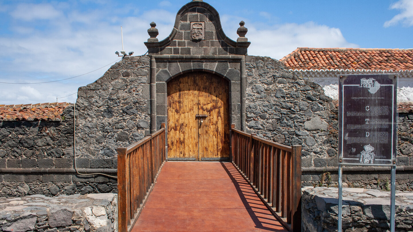
[[396, 165], [397, 76], [339, 78], [339, 164]]

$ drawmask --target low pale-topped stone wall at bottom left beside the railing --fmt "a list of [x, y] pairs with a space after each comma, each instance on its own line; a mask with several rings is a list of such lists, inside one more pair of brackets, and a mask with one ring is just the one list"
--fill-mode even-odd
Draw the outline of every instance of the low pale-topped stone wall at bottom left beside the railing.
[[117, 232], [117, 194], [0, 198], [0, 232]]

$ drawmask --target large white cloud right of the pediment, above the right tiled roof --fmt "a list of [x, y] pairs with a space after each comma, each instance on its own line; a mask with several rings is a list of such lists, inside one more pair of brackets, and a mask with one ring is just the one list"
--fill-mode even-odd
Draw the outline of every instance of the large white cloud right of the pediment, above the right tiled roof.
[[[236, 31], [239, 27], [237, 22], [241, 18], [224, 15], [221, 19], [227, 36], [237, 40]], [[261, 22], [250, 23], [247, 19], [244, 21], [245, 27], [248, 28], [245, 37], [251, 42], [248, 47], [250, 55], [281, 59], [297, 47], [358, 47], [354, 43], [347, 42], [339, 28], [314, 22], [263, 25]]]

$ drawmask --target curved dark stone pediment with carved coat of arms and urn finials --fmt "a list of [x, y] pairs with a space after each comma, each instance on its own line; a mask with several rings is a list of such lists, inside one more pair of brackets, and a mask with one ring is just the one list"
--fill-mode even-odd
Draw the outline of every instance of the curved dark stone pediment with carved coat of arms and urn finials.
[[148, 30], [151, 38], [145, 45], [149, 54], [246, 55], [251, 43], [244, 37], [247, 32], [244, 22], [240, 25], [240, 37], [237, 41], [231, 40], [222, 29], [216, 9], [202, 0], [196, 0], [178, 11], [172, 32], [164, 40], [158, 41], [156, 24], [152, 22]]

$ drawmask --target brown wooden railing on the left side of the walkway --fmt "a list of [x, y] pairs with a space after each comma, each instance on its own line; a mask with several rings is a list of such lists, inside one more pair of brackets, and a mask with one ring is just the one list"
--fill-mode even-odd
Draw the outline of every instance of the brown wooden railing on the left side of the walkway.
[[118, 148], [119, 232], [133, 227], [165, 160], [165, 123], [154, 134]]

